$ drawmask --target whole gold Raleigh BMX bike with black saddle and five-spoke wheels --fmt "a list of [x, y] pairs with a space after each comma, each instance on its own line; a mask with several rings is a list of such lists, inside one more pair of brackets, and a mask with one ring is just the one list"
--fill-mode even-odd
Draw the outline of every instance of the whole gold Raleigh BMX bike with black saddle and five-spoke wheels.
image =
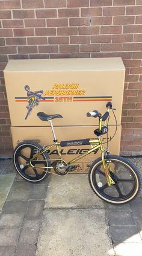
[[[13, 161], [14, 167], [23, 179], [29, 182], [43, 181], [54, 169], [57, 175], [63, 176], [75, 170], [75, 162], [84, 158], [88, 154], [96, 153], [100, 149], [101, 156], [92, 162], [88, 171], [88, 181], [94, 193], [102, 200], [110, 203], [122, 204], [130, 202], [141, 190], [141, 175], [134, 164], [121, 156], [110, 155], [108, 149], [104, 149], [102, 135], [108, 132], [108, 120], [112, 103], [106, 104], [106, 112], [101, 115], [97, 110], [87, 113], [87, 117], [98, 117], [99, 127], [94, 130], [96, 139], [76, 139], [71, 141], [61, 141], [55, 135], [52, 120], [62, 118], [61, 115], [47, 115], [39, 112], [37, 116], [42, 121], [48, 121], [51, 124], [54, 136], [54, 144], [49, 146], [40, 146], [34, 141], [20, 142], [14, 149]], [[116, 118], [115, 114], [114, 117]], [[107, 121], [107, 124], [106, 124]], [[103, 125], [102, 125], [102, 122]], [[117, 127], [117, 121], [116, 121]], [[69, 162], [61, 157], [60, 147], [70, 147], [78, 145], [90, 145], [90, 150]], [[58, 159], [51, 159], [48, 150], [56, 147]]]

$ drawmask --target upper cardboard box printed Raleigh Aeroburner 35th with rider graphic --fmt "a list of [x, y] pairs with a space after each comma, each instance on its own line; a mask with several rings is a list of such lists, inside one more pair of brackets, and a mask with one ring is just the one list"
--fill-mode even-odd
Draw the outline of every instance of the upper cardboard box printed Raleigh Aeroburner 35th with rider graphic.
[[[97, 118], [86, 113], [97, 109], [104, 114], [108, 101], [120, 124], [125, 79], [121, 58], [10, 60], [4, 77], [12, 126], [49, 126], [37, 118], [41, 111], [63, 115], [54, 120], [55, 126], [94, 125]], [[112, 115], [110, 124], [115, 124]]]

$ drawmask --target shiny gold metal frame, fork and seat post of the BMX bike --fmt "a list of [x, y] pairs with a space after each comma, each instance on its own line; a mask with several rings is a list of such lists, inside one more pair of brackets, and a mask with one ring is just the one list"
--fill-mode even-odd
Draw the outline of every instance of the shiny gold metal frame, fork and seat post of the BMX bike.
[[[108, 112], [109, 112], [110, 109], [108, 109]], [[60, 142], [58, 142], [56, 136], [55, 136], [55, 132], [54, 132], [54, 127], [52, 125], [52, 121], [49, 120], [49, 123], [51, 124], [51, 129], [52, 129], [52, 133], [53, 133], [53, 136], [54, 136], [54, 144], [50, 145], [50, 146], [44, 146], [42, 148], [42, 150], [40, 150], [40, 152], [36, 153], [29, 161], [29, 163], [27, 164], [29, 167], [32, 167], [34, 168], [34, 165], [32, 165], [32, 161], [36, 162], [36, 160], [34, 160], [35, 158], [37, 158], [37, 156], [40, 156], [42, 155], [42, 153], [45, 153], [47, 152], [49, 149], [52, 149], [52, 147], [56, 147], [57, 149], [57, 152], [58, 152], [58, 159], [54, 159], [55, 160], [62, 160], [64, 161], [63, 158], [61, 158], [61, 152], [60, 152]], [[102, 127], [102, 119], [100, 118], [99, 119], [99, 131], [101, 130], [101, 127]], [[111, 185], [111, 184], [115, 184], [115, 182], [113, 181], [113, 179], [111, 179], [110, 177], [110, 164], [107, 163], [105, 161], [105, 149], [103, 147], [103, 142], [102, 142], [102, 137], [101, 136], [97, 136], [97, 139], [90, 139], [89, 140], [89, 143], [90, 143], [90, 146], [91, 146], [91, 149], [88, 150], [87, 152], [81, 154], [80, 156], [77, 156], [76, 158], [72, 159], [71, 161], [67, 162], [67, 165], [72, 165], [74, 164], [76, 161], [78, 161], [79, 159], [81, 158], [84, 158], [85, 156], [87, 156], [88, 154], [96, 151], [96, 150], [101, 150], [101, 157], [102, 157], [102, 163], [103, 163], [103, 168], [105, 170], [105, 176], [106, 176], [106, 180], [108, 182], [108, 185]], [[39, 162], [40, 160], [38, 160]], [[50, 161], [48, 159], [45, 159], [45, 160], [41, 160], [42, 162], [43, 161]], [[52, 169], [54, 168], [53, 166], [51, 167], [43, 167], [43, 166], [36, 166], [36, 168], [42, 168], [42, 169]], [[47, 171], [48, 172], [48, 171]]]

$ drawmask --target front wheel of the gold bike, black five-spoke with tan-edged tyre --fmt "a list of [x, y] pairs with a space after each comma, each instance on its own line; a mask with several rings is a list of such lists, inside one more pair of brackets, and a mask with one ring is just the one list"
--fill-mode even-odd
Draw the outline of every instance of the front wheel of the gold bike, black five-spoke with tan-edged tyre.
[[[130, 202], [141, 190], [141, 175], [128, 159], [108, 155], [105, 159], [110, 165], [110, 176], [115, 184], [108, 186], [102, 158], [96, 159], [90, 167], [88, 180], [94, 193], [109, 203], [122, 204]], [[108, 163], [107, 163], [108, 162]]]

